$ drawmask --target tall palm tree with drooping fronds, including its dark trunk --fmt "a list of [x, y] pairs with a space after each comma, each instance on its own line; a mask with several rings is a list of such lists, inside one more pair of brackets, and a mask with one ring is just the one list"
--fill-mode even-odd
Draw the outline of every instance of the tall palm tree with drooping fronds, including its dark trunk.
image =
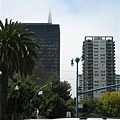
[[13, 73], [24, 78], [32, 74], [39, 48], [33, 35], [18, 21], [6, 19], [3, 24], [0, 20], [1, 120], [5, 120], [9, 69], [12, 67]]

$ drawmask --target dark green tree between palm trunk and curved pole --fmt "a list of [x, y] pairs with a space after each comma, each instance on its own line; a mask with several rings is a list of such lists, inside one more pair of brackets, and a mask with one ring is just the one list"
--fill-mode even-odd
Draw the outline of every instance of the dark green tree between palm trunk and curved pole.
[[[16, 96], [15, 86], [19, 86], [18, 95]], [[11, 116], [15, 112], [15, 102], [17, 98], [17, 113], [18, 117], [20, 115], [26, 116], [29, 118], [29, 109], [30, 109], [30, 99], [34, 96], [36, 91], [39, 89], [39, 86], [35, 86], [33, 82], [30, 80], [18, 81], [17, 83], [13, 84], [10, 83], [8, 86], [8, 97], [7, 97], [7, 109], [6, 115], [8, 120], [10, 120]], [[40, 103], [39, 97], [35, 98], [35, 102]]]

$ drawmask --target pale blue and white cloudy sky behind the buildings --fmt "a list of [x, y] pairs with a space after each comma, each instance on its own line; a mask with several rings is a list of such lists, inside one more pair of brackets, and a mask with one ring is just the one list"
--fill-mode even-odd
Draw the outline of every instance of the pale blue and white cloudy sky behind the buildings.
[[120, 0], [0, 0], [0, 19], [47, 23], [50, 9], [52, 24], [60, 25], [60, 80], [71, 84], [73, 97], [76, 64], [71, 67], [70, 63], [82, 56], [85, 36], [113, 36], [116, 73], [120, 74]]

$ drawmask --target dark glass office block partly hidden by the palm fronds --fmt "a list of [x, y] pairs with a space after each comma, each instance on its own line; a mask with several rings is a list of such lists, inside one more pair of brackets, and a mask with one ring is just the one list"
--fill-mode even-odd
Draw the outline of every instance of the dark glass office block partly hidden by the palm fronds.
[[52, 23], [22, 23], [29, 31], [35, 32], [33, 38], [40, 45], [37, 51], [39, 75], [43, 80], [52, 75], [60, 76], [60, 26]]

